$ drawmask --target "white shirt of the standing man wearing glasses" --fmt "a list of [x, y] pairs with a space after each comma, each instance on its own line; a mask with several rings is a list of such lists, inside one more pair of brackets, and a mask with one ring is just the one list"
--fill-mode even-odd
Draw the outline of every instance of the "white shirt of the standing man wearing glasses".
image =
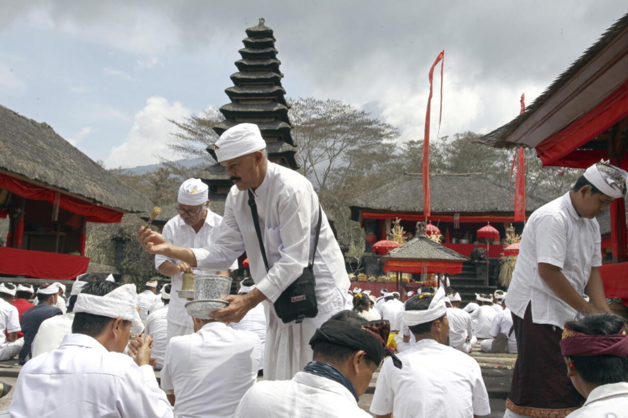
[[[170, 244], [179, 245], [180, 247], [197, 248], [207, 247], [214, 243], [220, 233], [220, 223], [222, 217], [217, 213], [207, 210], [207, 216], [205, 217], [205, 223], [203, 226], [195, 232], [194, 228], [187, 225], [183, 218], [179, 215], [171, 218], [166, 222], [163, 227], [163, 236], [170, 242]], [[216, 274], [219, 271], [236, 270], [237, 257], [242, 253], [237, 254], [234, 259], [224, 269], [194, 269], [195, 274]], [[180, 262], [177, 259], [171, 259], [165, 255], [155, 255], [155, 268], [159, 269], [160, 265], [166, 261], [170, 261], [173, 264]], [[178, 326], [187, 326], [192, 328], [192, 318], [185, 311], [185, 299], [179, 297], [176, 291], [181, 290], [183, 286], [183, 276], [181, 273], [175, 274], [171, 277], [172, 287], [170, 292], [170, 308], [168, 308], [168, 322], [176, 324]]]

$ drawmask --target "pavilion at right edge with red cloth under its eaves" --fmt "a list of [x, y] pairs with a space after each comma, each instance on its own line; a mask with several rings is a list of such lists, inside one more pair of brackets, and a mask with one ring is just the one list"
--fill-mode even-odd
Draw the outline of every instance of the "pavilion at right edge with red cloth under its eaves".
[[[478, 141], [494, 147], [533, 147], [545, 166], [587, 168], [610, 159], [628, 169], [628, 14], [526, 112]], [[610, 237], [604, 237], [602, 247], [607, 261], [614, 263], [601, 269], [607, 296], [628, 301], [625, 200], [615, 199], [604, 217], [602, 233]]]

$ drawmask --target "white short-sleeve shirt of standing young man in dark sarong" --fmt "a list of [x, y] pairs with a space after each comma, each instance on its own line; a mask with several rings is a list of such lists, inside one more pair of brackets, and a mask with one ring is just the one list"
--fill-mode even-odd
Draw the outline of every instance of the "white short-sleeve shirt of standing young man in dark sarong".
[[543, 281], [538, 264], [560, 267], [571, 286], [583, 294], [591, 268], [602, 265], [601, 240], [597, 220], [580, 217], [569, 192], [535, 210], [521, 235], [519, 256], [506, 296], [508, 308], [523, 318], [531, 302], [534, 323], [563, 328], [577, 312]]

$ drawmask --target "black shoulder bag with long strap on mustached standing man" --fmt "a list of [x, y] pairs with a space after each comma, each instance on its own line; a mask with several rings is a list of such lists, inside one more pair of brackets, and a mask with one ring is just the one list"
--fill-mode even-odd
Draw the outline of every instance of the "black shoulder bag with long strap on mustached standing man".
[[[255, 203], [255, 197], [251, 190], [249, 190], [249, 206], [251, 206], [251, 214], [253, 216], [253, 223], [255, 225], [255, 232], [257, 233], [257, 240], [259, 241], [259, 249], [262, 252], [262, 258], [264, 259], [264, 265], [266, 271], [269, 271], [268, 259], [266, 259], [266, 249], [264, 249], [264, 242], [262, 240], [262, 232], [259, 228], [259, 218], [257, 217], [257, 205]], [[314, 238], [314, 249], [312, 251], [312, 259], [307, 267], [303, 269], [301, 276], [299, 276], [290, 286], [281, 292], [279, 297], [274, 303], [274, 309], [277, 316], [281, 318], [284, 324], [295, 321], [300, 324], [305, 318], [314, 318], [318, 314], [318, 303], [316, 300], [316, 294], [314, 287], [316, 286], [316, 280], [314, 278], [314, 258], [316, 257], [316, 250], [318, 247], [318, 235], [320, 235], [320, 224], [322, 222], [322, 210], [318, 205], [318, 223], [316, 227], [316, 237]]]

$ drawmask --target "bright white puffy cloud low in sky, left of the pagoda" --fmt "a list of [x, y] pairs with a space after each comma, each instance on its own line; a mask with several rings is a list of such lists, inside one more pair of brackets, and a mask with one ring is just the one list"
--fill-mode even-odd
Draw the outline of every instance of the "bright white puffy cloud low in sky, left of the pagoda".
[[167, 143], [175, 126], [168, 121], [180, 121], [192, 114], [180, 102], [168, 102], [163, 97], [146, 99], [146, 105], [135, 114], [127, 139], [114, 147], [106, 159], [107, 167], [134, 167], [159, 163], [158, 154], [170, 154]]

